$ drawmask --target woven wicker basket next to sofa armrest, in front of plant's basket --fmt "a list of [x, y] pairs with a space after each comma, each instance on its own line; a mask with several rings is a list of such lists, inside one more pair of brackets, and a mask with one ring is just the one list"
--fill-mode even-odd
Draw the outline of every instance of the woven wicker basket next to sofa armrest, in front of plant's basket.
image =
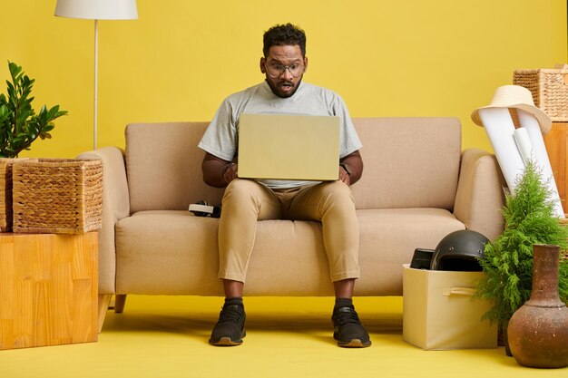
[[13, 185], [14, 232], [83, 234], [102, 227], [100, 160], [16, 162]]

